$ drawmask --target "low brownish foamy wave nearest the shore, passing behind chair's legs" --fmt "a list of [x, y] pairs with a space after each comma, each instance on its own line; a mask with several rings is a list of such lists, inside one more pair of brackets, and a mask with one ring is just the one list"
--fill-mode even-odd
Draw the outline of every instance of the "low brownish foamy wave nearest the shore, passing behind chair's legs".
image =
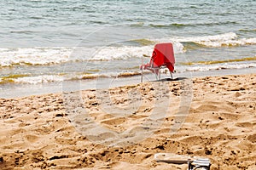
[[[233, 62], [233, 63], [220, 63], [212, 65], [177, 65], [176, 72], [183, 73], [187, 71], [218, 71], [227, 69], [245, 69], [256, 67], [256, 62]], [[167, 70], [162, 70], [163, 73]], [[144, 74], [150, 74], [150, 71], [143, 71]], [[77, 72], [73, 74], [58, 73], [53, 75], [10, 75], [7, 77], [0, 78], [0, 84], [17, 83], [17, 84], [41, 84], [49, 82], [64, 82], [64, 81], [79, 81], [79, 80], [92, 80], [97, 78], [125, 78], [125, 77], [136, 77], [141, 75], [139, 70], [133, 71], [122, 71], [122, 72], [99, 72], [99, 73], [88, 73], [88, 72]]]

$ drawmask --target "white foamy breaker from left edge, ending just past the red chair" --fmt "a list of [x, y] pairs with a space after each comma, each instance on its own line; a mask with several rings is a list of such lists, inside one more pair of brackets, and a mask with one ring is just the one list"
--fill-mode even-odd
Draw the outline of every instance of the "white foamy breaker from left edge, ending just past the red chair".
[[[121, 47], [73, 47], [73, 48], [0, 48], [0, 66], [15, 65], [56, 65], [67, 62], [131, 59], [151, 56], [154, 49], [150, 40], [132, 40], [138, 43], [147, 43], [145, 46]], [[151, 45], [148, 45], [152, 43]], [[174, 44], [175, 53], [183, 53], [183, 45]]]

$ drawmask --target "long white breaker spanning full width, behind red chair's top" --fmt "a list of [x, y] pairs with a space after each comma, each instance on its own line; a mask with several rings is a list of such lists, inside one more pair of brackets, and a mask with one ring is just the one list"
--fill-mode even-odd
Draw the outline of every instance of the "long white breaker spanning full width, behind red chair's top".
[[185, 53], [188, 49], [218, 48], [256, 44], [256, 37], [238, 38], [236, 33], [228, 32], [203, 37], [165, 37], [162, 39], [134, 39], [133, 45], [113, 44], [109, 47], [36, 47], [0, 48], [0, 66], [15, 65], [59, 65], [67, 62], [131, 59], [151, 56], [154, 44], [172, 42], [174, 53]]

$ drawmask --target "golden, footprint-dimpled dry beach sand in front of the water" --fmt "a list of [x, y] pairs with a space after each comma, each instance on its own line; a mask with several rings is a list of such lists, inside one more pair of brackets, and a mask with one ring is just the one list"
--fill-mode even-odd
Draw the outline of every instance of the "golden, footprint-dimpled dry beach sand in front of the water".
[[256, 169], [256, 74], [0, 99], [0, 169]]

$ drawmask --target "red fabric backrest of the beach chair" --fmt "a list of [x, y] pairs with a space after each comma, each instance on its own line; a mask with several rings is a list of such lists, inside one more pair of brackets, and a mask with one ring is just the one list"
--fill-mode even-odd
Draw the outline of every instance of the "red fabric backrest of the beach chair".
[[153, 67], [166, 66], [171, 72], [173, 72], [175, 58], [172, 43], [156, 44], [149, 64]]

